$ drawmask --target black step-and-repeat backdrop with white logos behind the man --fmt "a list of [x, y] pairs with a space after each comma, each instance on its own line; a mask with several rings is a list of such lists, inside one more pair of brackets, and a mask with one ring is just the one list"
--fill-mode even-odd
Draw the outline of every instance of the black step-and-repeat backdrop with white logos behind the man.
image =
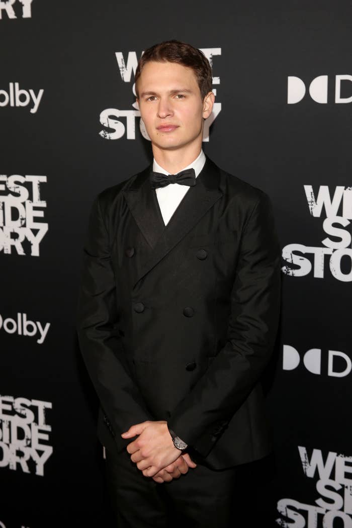
[[351, 20], [325, 0], [0, 1], [0, 528], [109, 526], [82, 245], [94, 196], [151, 160], [134, 74], [173, 38], [212, 64], [204, 151], [270, 195], [282, 246], [275, 451], [249, 515], [352, 527]]

